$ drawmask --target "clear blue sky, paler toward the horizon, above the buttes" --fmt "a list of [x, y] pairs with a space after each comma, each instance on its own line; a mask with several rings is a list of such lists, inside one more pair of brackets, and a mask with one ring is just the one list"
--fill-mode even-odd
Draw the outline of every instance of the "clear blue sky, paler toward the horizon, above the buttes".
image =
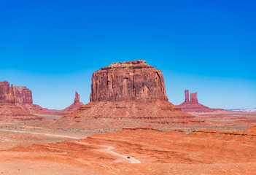
[[224, 109], [256, 107], [256, 2], [0, 0], [0, 81], [34, 104], [88, 103], [93, 71], [144, 59], [163, 71], [169, 101], [184, 90]]

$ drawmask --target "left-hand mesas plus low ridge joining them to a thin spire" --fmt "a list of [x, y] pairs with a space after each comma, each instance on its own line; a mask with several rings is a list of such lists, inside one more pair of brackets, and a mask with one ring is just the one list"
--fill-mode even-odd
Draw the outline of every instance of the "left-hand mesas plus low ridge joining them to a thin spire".
[[42, 108], [33, 104], [32, 91], [26, 86], [9, 86], [9, 82], [0, 82], [0, 120], [23, 121], [60, 118], [83, 106], [79, 94], [75, 93], [74, 103], [63, 110]]

